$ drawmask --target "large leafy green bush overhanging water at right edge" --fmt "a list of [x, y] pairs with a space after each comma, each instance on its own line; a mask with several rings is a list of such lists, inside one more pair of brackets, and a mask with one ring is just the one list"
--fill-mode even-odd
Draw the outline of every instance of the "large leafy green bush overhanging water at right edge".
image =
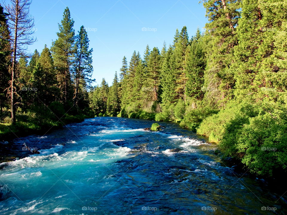
[[220, 143], [225, 156], [237, 157], [259, 175], [272, 176], [282, 168], [286, 170], [286, 116], [286, 110], [262, 111], [243, 125], [236, 117], [228, 123]]

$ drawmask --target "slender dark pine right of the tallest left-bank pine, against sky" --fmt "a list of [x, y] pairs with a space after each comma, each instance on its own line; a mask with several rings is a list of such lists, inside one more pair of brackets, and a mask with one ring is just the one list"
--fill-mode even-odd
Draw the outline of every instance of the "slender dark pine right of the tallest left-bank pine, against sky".
[[92, 66], [93, 49], [89, 50], [89, 39], [84, 26], [81, 26], [79, 35], [76, 36], [75, 49], [76, 50], [75, 50], [75, 59], [73, 68], [75, 92], [73, 99], [74, 99], [74, 105], [78, 107], [78, 101], [80, 99], [79, 94], [81, 92], [86, 92], [87, 88], [90, 88], [91, 83], [94, 81], [91, 79], [93, 73], [93, 66]]

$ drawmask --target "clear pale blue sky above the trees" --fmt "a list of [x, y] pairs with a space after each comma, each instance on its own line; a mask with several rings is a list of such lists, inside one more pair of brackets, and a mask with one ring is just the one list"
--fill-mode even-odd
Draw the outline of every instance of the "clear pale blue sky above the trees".
[[[35, 20], [37, 42], [31, 52], [51, 47], [57, 39], [58, 23], [65, 7], [74, 19], [75, 33], [86, 27], [93, 48], [93, 78], [96, 84], [106, 78], [112, 84], [119, 72], [123, 56], [129, 61], [134, 50], [143, 56], [145, 47], [162, 48], [172, 43], [176, 28], [186, 25], [189, 36], [207, 22], [205, 9], [199, 0], [33, 0], [30, 14]], [[9, 0], [4, 0], [9, 3]]]

